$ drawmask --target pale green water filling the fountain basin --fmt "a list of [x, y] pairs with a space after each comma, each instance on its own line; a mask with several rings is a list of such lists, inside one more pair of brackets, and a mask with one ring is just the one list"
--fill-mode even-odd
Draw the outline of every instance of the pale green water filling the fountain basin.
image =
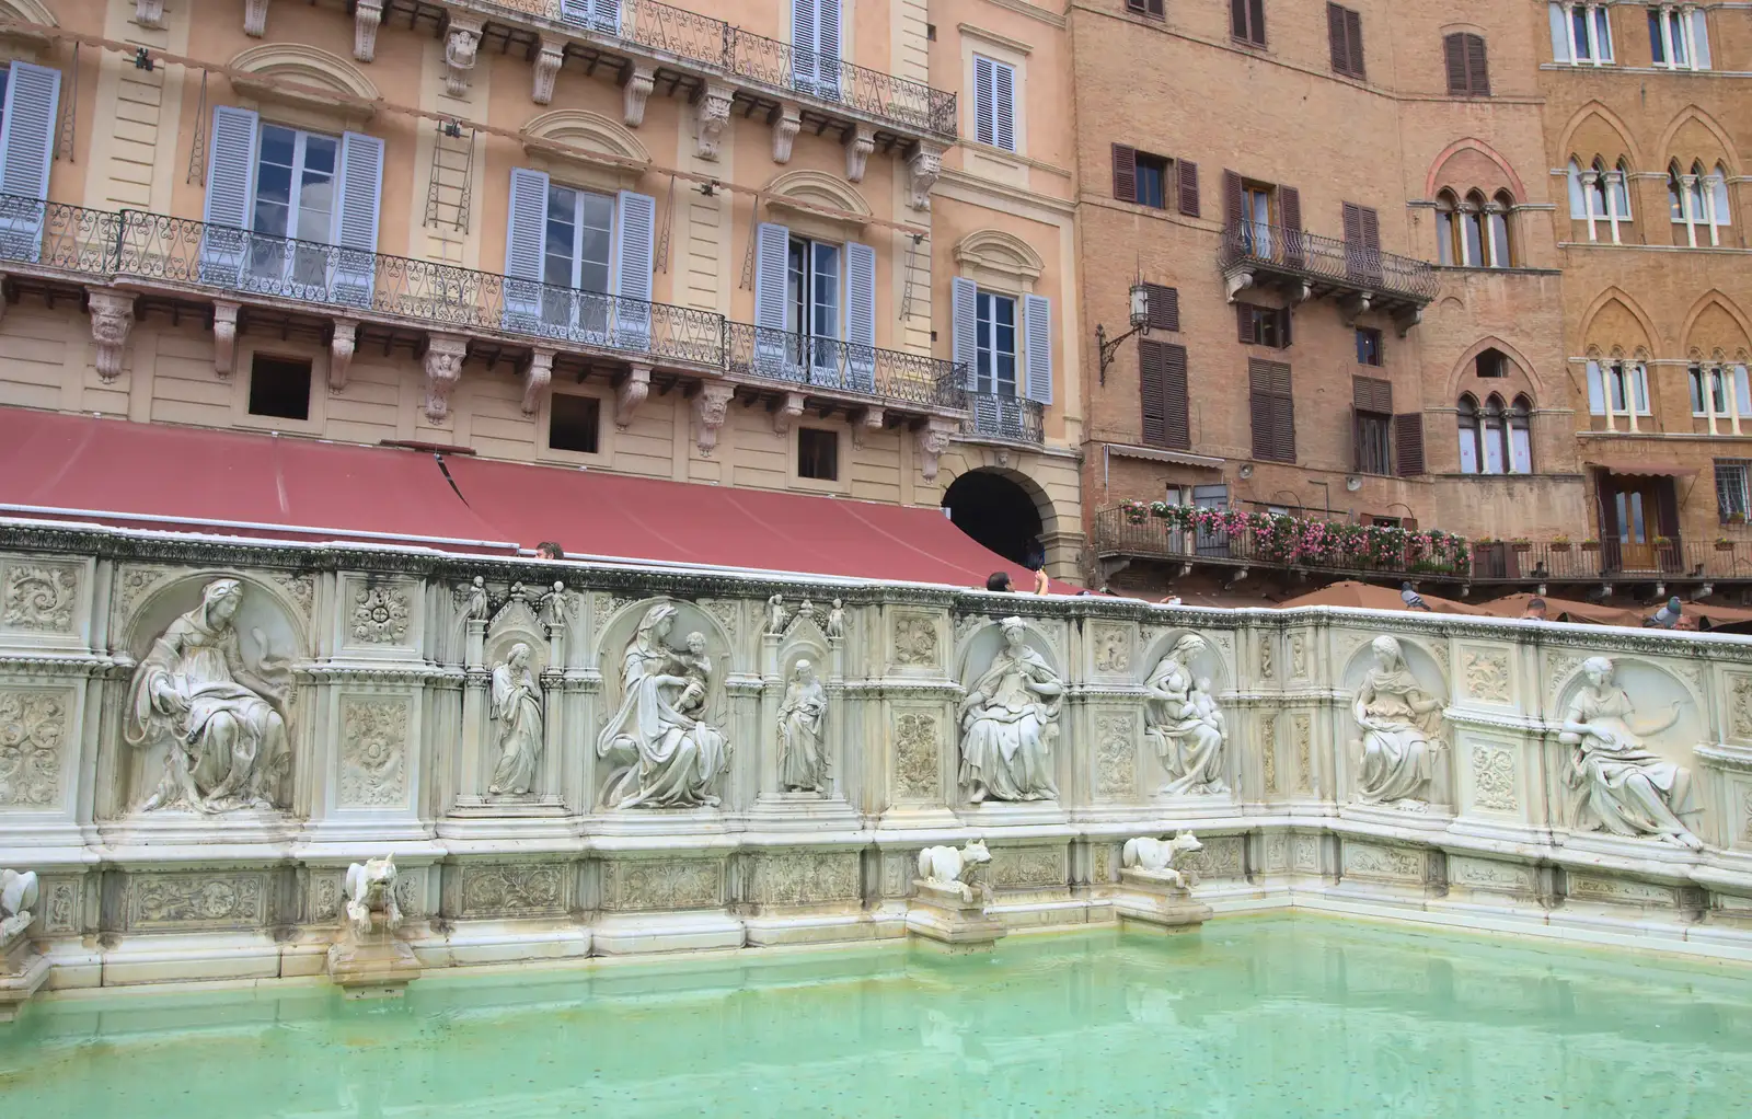
[[1747, 1114], [1752, 968], [1321, 918], [32, 1005], [0, 1114]]

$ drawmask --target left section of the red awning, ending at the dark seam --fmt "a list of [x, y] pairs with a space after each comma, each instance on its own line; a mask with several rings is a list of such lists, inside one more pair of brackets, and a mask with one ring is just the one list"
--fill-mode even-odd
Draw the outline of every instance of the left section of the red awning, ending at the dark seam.
[[0, 408], [0, 513], [510, 550], [429, 452]]

